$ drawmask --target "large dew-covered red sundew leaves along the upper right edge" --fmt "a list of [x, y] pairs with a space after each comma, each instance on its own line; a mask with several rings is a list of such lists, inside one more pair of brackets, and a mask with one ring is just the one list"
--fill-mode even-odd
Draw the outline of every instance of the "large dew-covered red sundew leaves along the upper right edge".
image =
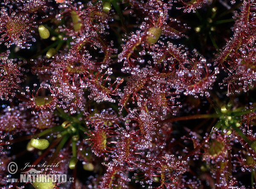
[[[234, 35], [215, 60], [228, 76], [219, 85], [227, 86], [227, 96], [247, 92], [255, 81], [255, 17], [253, 1], [244, 1], [241, 12], [236, 14]], [[223, 87], [222, 87], [223, 88]]]

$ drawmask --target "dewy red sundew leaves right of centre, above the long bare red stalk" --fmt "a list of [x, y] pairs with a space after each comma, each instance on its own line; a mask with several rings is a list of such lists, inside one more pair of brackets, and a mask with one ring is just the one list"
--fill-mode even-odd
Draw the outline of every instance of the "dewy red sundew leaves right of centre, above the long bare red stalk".
[[208, 90], [212, 89], [216, 79], [215, 73], [210, 70], [211, 64], [196, 49], [190, 55], [182, 46], [177, 47], [170, 42], [167, 44], [168, 47], [162, 44], [162, 48], [154, 52], [154, 64], [157, 68], [162, 61], [165, 66], [162, 71], [165, 73], [165, 80], [172, 81], [170, 87], [176, 89], [176, 94], [183, 92], [184, 95], [196, 98], [198, 95], [209, 97]]

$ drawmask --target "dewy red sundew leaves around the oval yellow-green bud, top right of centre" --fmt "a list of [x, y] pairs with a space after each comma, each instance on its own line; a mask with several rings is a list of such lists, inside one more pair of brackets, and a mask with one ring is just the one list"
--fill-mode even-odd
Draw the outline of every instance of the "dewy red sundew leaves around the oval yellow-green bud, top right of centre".
[[[166, 6], [165, 3], [147, 2], [143, 6], [139, 8], [135, 6], [139, 10], [144, 8], [146, 11], [139, 30], [124, 35], [122, 39], [125, 44], [121, 44], [123, 50], [118, 55], [118, 62], [123, 61], [122, 72], [124, 73], [137, 73], [138, 68], [143, 67], [145, 63], [146, 53], [151, 54], [154, 49], [158, 49], [156, 43], [160, 38], [169, 40], [185, 37], [183, 32], [188, 29], [186, 24], [182, 25], [179, 20], [169, 17], [168, 9], [171, 7]], [[139, 51], [140, 56], [135, 53], [136, 51]]]

